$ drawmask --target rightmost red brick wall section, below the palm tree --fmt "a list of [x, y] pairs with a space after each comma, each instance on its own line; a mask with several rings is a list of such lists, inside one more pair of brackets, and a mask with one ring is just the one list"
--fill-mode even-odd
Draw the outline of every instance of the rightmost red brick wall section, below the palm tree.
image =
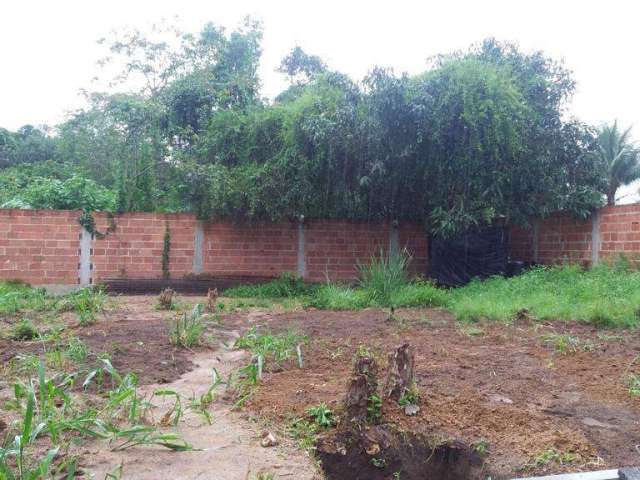
[[636, 261], [640, 257], [640, 204], [600, 210], [600, 258], [619, 253]]

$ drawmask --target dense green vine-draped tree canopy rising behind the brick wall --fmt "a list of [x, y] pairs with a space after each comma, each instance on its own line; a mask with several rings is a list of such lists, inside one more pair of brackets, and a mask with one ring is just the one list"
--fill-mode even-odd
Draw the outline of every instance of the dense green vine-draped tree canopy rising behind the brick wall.
[[[165, 34], [106, 42], [105, 62], [125, 65], [111, 83], [137, 90], [88, 94], [53, 135], [0, 130], [0, 202], [414, 220], [447, 235], [584, 216], [606, 192], [595, 132], [566, 117], [571, 75], [542, 53], [486, 40], [420, 75], [376, 67], [355, 82], [296, 47], [279, 68], [290, 86], [269, 102], [259, 24]], [[52, 162], [64, 178], [26, 166]]]

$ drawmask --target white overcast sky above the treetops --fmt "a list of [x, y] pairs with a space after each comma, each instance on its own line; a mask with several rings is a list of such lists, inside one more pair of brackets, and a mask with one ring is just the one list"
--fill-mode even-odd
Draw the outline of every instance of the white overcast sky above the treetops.
[[571, 112], [598, 124], [636, 125], [640, 138], [638, 0], [0, 0], [0, 127], [55, 124], [82, 105], [103, 50], [96, 40], [125, 26], [178, 16], [233, 28], [264, 22], [263, 94], [295, 45], [356, 79], [374, 65], [417, 73], [427, 57], [494, 36], [562, 58], [578, 82]]

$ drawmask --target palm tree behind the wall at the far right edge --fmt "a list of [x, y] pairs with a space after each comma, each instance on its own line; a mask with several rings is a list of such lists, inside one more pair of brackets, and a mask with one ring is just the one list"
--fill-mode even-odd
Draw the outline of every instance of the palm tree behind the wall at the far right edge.
[[616, 191], [640, 178], [640, 149], [631, 141], [631, 127], [618, 129], [618, 122], [598, 129], [595, 155], [607, 172], [607, 205], [616, 204]]

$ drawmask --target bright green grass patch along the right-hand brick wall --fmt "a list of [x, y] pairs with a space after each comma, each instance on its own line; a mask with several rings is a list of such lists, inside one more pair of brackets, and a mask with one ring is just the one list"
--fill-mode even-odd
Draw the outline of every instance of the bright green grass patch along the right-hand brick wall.
[[621, 262], [590, 270], [537, 267], [518, 277], [473, 281], [452, 291], [448, 307], [465, 321], [508, 322], [526, 309], [538, 320], [634, 327], [640, 322], [640, 272]]

